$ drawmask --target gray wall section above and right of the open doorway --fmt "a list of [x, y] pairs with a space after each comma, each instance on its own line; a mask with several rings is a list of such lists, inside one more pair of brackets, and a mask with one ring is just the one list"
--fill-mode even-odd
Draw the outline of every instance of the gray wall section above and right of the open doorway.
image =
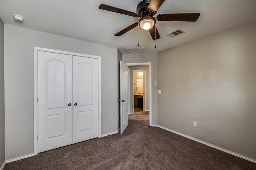
[[152, 66], [152, 125], [157, 125], [157, 54], [123, 54], [124, 63], [149, 63]]

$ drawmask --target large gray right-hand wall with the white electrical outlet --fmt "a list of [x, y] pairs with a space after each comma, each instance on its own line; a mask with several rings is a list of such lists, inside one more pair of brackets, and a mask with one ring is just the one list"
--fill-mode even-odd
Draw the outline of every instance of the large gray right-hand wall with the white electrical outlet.
[[253, 22], [159, 52], [158, 125], [256, 160], [255, 30]]

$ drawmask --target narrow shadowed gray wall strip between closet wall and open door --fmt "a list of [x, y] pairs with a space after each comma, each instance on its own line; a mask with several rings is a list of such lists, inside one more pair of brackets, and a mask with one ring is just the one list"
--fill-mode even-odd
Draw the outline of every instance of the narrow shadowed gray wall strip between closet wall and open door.
[[[117, 80], [118, 80], [118, 85], [117, 85], [117, 98], [120, 100], [120, 61], [123, 60], [123, 54], [121, 51], [118, 49], [117, 50], [117, 65], [118, 65], [118, 71], [117, 71]], [[117, 128], [120, 128], [120, 102], [117, 102], [117, 113], [118, 113], [118, 126]]]

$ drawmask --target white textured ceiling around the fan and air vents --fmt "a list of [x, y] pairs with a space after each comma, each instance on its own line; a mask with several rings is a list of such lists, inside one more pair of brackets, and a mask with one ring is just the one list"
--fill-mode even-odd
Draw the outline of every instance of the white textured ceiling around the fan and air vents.
[[[164, 13], [200, 13], [196, 22], [156, 21], [160, 39], [152, 40], [150, 33], [140, 29], [142, 51], [128, 48], [138, 45], [138, 27], [120, 37], [115, 33], [137, 22], [123, 14], [100, 10], [108, 4], [136, 12], [140, 0], [0, 0], [0, 17], [4, 23], [35, 29], [93, 43], [118, 47], [122, 53], [156, 53], [226, 29], [256, 21], [256, 0], [166, 0], [157, 11]], [[21, 23], [12, 14], [25, 18]], [[176, 29], [186, 33], [174, 38], [165, 34]]]

